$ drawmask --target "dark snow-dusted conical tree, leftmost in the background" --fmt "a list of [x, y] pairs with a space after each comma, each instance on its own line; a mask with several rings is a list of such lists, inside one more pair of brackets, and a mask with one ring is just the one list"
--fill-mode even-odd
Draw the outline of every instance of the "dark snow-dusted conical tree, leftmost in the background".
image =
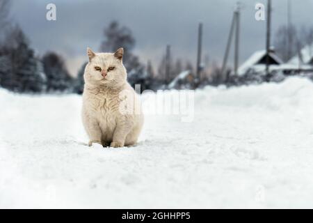
[[45, 74], [22, 29], [15, 26], [0, 49], [1, 86], [16, 92], [42, 92]]

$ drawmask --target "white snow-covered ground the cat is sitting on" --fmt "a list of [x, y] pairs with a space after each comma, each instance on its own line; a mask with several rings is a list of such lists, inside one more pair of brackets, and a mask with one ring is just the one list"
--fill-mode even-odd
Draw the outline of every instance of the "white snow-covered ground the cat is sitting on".
[[78, 95], [0, 90], [0, 208], [313, 208], [313, 83], [195, 93], [191, 123], [146, 116], [100, 148]]

